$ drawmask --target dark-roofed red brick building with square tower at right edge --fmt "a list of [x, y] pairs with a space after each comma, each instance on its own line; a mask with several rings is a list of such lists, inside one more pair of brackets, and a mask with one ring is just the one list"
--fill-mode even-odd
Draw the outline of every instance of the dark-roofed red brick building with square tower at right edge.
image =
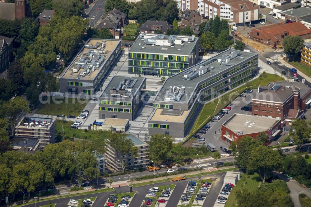
[[300, 82], [280, 81], [258, 87], [252, 99], [252, 115], [281, 120], [281, 127], [291, 125], [295, 118], [302, 118], [310, 107], [311, 90]]

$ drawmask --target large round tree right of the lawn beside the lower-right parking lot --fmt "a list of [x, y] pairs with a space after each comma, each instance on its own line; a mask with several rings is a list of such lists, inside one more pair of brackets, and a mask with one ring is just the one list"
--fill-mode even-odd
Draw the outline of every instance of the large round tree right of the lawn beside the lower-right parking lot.
[[258, 173], [263, 183], [272, 175], [273, 170], [278, 170], [283, 164], [281, 154], [267, 146], [259, 145], [249, 155], [246, 169], [248, 172]]

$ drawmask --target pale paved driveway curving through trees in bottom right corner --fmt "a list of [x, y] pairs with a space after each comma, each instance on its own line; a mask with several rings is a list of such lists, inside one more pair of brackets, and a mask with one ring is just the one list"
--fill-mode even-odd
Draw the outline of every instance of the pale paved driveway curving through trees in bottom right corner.
[[273, 174], [286, 182], [286, 185], [290, 188], [290, 197], [292, 198], [295, 207], [301, 207], [299, 194], [304, 193], [311, 199], [311, 191], [308, 188], [301, 187], [299, 182], [291, 180], [281, 173], [273, 172]]

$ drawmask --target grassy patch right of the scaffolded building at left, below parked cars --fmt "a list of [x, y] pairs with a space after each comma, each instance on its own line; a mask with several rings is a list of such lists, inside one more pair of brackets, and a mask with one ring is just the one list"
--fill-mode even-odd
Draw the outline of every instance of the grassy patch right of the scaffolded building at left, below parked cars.
[[70, 126], [73, 122], [67, 122], [63, 120], [56, 121], [56, 131], [58, 136], [62, 134], [62, 125], [64, 127], [65, 139], [72, 137], [87, 139], [92, 141], [101, 141], [111, 134], [110, 131], [101, 131], [101, 130], [82, 130], [82, 129], [72, 129]]

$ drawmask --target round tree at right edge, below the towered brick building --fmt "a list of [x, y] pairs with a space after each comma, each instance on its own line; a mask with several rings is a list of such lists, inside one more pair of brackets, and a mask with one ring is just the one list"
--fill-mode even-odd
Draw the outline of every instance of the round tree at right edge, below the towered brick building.
[[[311, 128], [311, 123], [306, 122], [305, 119], [295, 119], [290, 126], [290, 136], [299, 144], [309, 140]], [[294, 129], [294, 131], [293, 131]]]

